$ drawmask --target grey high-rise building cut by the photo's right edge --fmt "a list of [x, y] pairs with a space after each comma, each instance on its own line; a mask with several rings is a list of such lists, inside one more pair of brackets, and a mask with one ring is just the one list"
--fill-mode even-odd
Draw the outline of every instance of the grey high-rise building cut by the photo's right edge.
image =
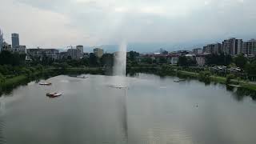
[[256, 55], [256, 39], [251, 39], [248, 42], [243, 42], [243, 54], [247, 57], [254, 57]]

